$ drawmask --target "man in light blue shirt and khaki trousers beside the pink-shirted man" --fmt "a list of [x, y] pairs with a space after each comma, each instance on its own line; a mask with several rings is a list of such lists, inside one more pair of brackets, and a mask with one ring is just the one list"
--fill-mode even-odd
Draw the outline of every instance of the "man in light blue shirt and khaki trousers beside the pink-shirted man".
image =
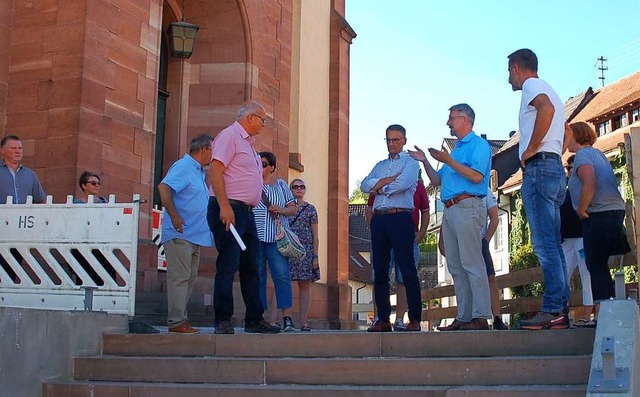
[[187, 302], [198, 276], [200, 247], [213, 245], [207, 224], [209, 189], [204, 167], [211, 163], [209, 135], [193, 138], [189, 154], [173, 163], [158, 185], [165, 209], [162, 244], [167, 257], [167, 301], [169, 332], [195, 334], [187, 320]]

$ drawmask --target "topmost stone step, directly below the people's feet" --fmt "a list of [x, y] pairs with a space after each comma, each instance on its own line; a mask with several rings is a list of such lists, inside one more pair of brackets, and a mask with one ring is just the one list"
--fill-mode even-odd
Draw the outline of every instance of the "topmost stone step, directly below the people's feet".
[[215, 357], [491, 357], [584, 355], [593, 329], [384, 333], [106, 334], [103, 353]]

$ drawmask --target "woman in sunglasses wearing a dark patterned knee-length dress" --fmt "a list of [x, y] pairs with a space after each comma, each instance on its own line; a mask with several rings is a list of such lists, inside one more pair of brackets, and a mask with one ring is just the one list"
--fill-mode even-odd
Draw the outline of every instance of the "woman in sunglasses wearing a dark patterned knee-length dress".
[[289, 260], [289, 274], [291, 281], [298, 282], [300, 294], [300, 331], [311, 331], [307, 323], [309, 305], [311, 303], [311, 283], [320, 280], [320, 265], [318, 263], [318, 212], [311, 203], [304, 201], [307, 187], [302, 179], [294, 179], [289, 185], [293, 197], [296, 199], [297, 212], [289, 217], [291, 230], [304, 245], [307, 254], [298, 261]]

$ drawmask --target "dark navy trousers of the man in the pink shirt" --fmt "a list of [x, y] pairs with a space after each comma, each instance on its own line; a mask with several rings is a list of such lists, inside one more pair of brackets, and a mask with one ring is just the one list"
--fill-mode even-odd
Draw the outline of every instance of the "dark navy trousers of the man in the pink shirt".
[[216, 276], [213, 286], [213, 310], [215, 324], [230, 321], [233, 316], [233, 278], [240, 273], [240, 291], [247, 308], [244, 317], [245, 326], [255, 324], [261, 320], [264, 309], [260, 303], [258, 288], [258, 231], [253, 212], [231, 206], [236, 218], [236, 231], [247, 246], [246, 251], [240, 250], [238, 242], [225, 225], [220, 221], [220, 206], [213, 198], [209, 199], [207, 222], [213, 232], [218, 259], [216, 260]]

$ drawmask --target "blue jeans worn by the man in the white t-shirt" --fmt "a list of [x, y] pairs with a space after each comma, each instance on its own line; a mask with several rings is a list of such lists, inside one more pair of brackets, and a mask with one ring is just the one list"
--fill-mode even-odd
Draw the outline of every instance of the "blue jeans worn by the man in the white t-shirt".
[[522, 200], [531, 228], [533, 251], [544, 277], [542, 308], [560, 313], [569, 303], [569, 284], [560, 238], [560, 205], [566, 194], [565, 173], [557, 158], [531, 160], [524, 169]]

